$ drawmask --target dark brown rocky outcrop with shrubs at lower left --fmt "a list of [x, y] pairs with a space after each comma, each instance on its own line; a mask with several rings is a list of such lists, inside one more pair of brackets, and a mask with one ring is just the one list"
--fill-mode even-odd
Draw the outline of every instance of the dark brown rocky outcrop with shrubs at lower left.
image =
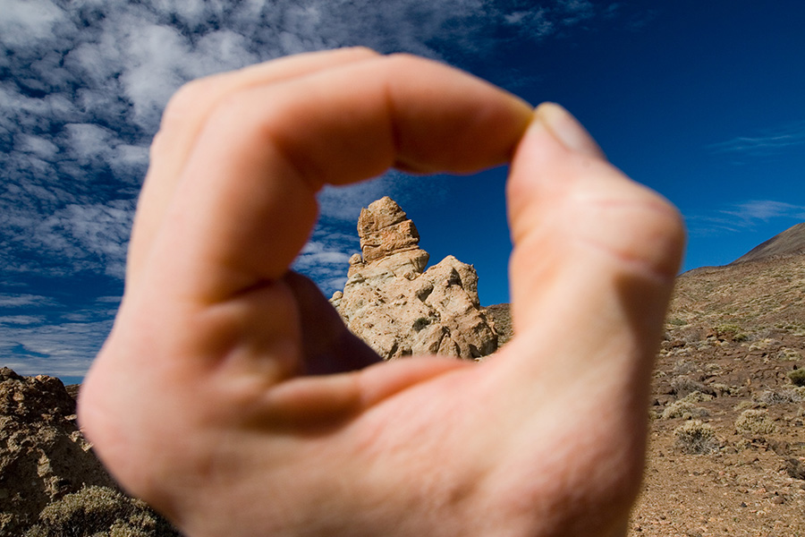
[[0, 369], [0, 535], [178, 535], [120, 493], [75, 420], [61, 380]]

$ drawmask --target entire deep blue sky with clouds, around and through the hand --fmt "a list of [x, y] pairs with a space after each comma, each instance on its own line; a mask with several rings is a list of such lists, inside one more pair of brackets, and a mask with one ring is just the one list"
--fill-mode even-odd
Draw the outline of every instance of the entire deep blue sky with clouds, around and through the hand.
[[[123, 292], [131, 217], [162, 109], [184, 81], [364, 45], [457, 65], [563, 104], [615, 165], [672, 200], [685, 269], [805, 221], [805, 3], [589, 0], [0, 0], [0, 364], [80, 378]], [[432, 262], [508, 301], [505, 170], [390, 173], [320, 196], [296, 268], [326, 294], [390, 195]]]

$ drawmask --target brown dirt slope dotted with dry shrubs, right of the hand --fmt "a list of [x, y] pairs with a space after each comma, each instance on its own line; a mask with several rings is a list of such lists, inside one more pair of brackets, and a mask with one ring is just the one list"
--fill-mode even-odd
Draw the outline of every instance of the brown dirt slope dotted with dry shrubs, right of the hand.
[[[789, 377], [805, 369], [803, 295], [805, 256], [679, 278], [630, 537], [805, 536], [805, 388]], [[674, 432], [686, 423], [702, 454]]]

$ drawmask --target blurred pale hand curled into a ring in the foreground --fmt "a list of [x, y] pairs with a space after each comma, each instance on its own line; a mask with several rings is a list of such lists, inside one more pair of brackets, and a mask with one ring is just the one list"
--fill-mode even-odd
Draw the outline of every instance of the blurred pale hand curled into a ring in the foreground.
[[[516, 337], [487, 361], [375, 363], [288, 272], [324, 184], [505, 162]], [[191, 537], [623, 536], [683, 243], [561, 107], [441, 64], [344, 49], [195, 81], [80, 422]]]

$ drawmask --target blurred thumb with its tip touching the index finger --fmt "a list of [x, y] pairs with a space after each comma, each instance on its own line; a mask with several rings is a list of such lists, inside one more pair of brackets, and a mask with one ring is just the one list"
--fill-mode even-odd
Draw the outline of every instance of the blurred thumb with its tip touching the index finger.
[[[634, 366], [643, 362], [648, 375], [682, 259], [679, 213], [611, 166], [554, 104], [534, 113], [513, 158], [507, 199], [515, 333], [539, 337], [543, 349], [557, 338], [565, 345], [561, 361], [528, 356], [527, 367], [578, 371], [579, 362], [606, 353], [619, 358], [597, 373], [638, 380]], [[611, 369], [618, 367], [627, 371]]]

